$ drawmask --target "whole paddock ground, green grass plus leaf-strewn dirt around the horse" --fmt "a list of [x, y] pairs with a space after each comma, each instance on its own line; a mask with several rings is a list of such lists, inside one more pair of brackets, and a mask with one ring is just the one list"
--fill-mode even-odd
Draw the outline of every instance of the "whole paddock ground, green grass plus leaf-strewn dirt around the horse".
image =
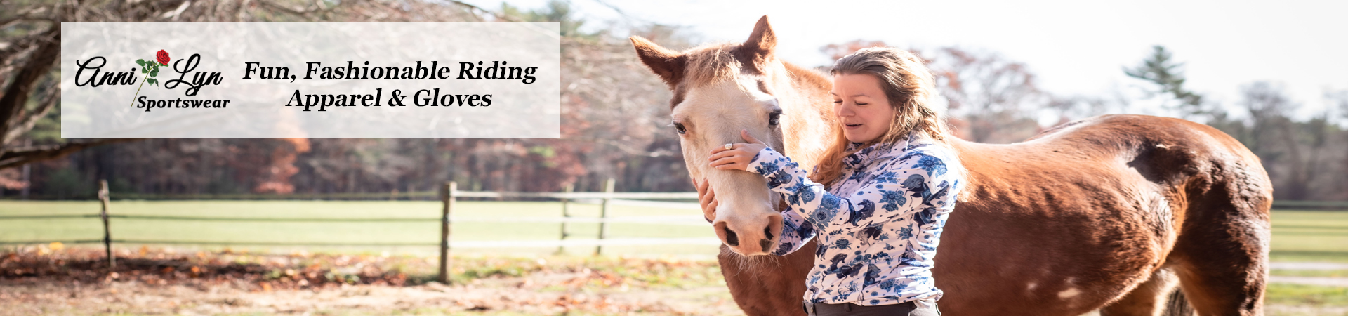
[[[80, 285], [77, 289], [71, 288], [69, 281], [42, 282], [42, 278], [15, 275], [11, 263], [0, 263], [5, 265], [5, 269], [0, 269], [4, 270], [0, 273], [0, 296], [5, 300], [0, 301], [18, 302], [23, 308], [51, 308], [44, 311], [74, 313], [105, 309], [128, 313], [174, 311], [324, 313], [336, 309], [357, 311], [357, 313], [439, 313], [437, 311], [456, 315], [557, 313], [554, 309], [528, 309], [523, 307], [527, 304], [501, 301], [499, 297], [483, 298], [491, 293], [508, 293], [532, 297], [527, 300], [543, 300], [545, 305], [554, 304], [558, 297], [570, 297], [576, 300], [576, 305], [568, 308], [588, 315], [739, 313], [733, 301], [729, 301], [729, 293], [713, 258], [717, 251], [714, 234], [698, 216], [697, 209], [686, 207], [686, 201], [611, 203], [612, 240], [669, 239], [687, 243], [605, 246], [603, 255], [599, 257], [593, 255], [594, 244], [562, 246], [562, 251], [558, 253], [562, 230], [558, 220], [562, 219], [561, 201], [457, 201], [452, 248], [453, 262], [458, 265], [454, 266], [452, 284], [446, 286], [431, 282], [437, 273], [438, 216], [442, 204], [425, 200], [427, 194], [414, 196], [418, 194], [383, 194], [380, 200], [368, 200], [371, 199], [368, 196], [364, 197], [367, 200], [237, 200], [241, 196], [228, 196], [233, 200], [112, 200], [111, 215], [124, 215], [109, 220], [113, 239], [124, 240], [113, 243], [119, 259], [123, 265], [128, 265], [123, 269], [135, 269], [133, 265], [137, 262], [146, 265], [144, 262], [162, 262], [164, 258], [197, 255], [226, 262], [257, 263], [268, 269], [256, 275], [255, 281], [224, 288], [202, 286], [213, 292], [201, 292], [190, 289], [191, 286], [183, 288], [182, 282], [190, 280], [170, 280], [164, 285], [142, 280], [162, 275], [156, 273], [162, 271], [162, 267], [144, 267], [148, 271], [140, 275], [142, 278], [123, 277]], [[1286, 208], [1289, 205], [1295, 207]], [[601, 207], [600, 200], [570, 203], [568, 213], [574, 220], [568, 223], [568, 232], [572, 234], [568, 238], [597, 240]], [[1348, 298], [1345, 298], [1348, 297], [1348, 211], [1308, 209], [1312, 207], [1305, 203], [1279, 203], [1279, 207], [1273, 212], [1274, 263], [1270, 278], [1273, 284], [1268, 286], [1267, 297], [1268, 315], [1348, 312]], [[86, 217], [96, 215], [98, 209], [98, 201], [0, 200], [0, 242], [5, 243], [0, 247], [0, 258], [7, 258], [7, 254], [65, 258], [61, 255], [78, 257], [78, 251], [84, 251], [89, 254], [86, 261], [98, 262], [102, 254], [101, 243], [66, 244], [63, 250], [54, 250], [51, 244], [55, 240], [98, 240], [102, 235], [101, 221], [96, 216]], [[73, 216], [16, 219], [50, 215]], [[231, 217], [274, 220], [191, 220]], [[332, 221], [352, 217], [384, 220]], [[698, 243], [698, 239], [710, 242]], [[16, 240], [46, 243], [15, 243]], [[491, 244], [497, 246], [537, 244], [493, 248], [483, 247]], [[342, 258], [346, 258], [345, 262], [340, 262]], [[411, 277], [406, 285], [355, 282], [303, 290], [286, 289], [279, 284], [263, 286], [279, 282], [268, 278], [268, 274], [278, 271], [284, 275], [287, 269], [270, 267], [274, 265], [270, 262], [291, 261], [334, 267], [336, 263], [345, 263], [348, 269], [357, 263], [399, 266]], [[651, 269], [651, 265], [661, 267]], [[303, 271], [305, 267], [291, 269]], [[584, 270], [589, 270], [590, 274], [585, 274], [588, 277], [584, 278], [577, 277]], [[123, 275], [128, 273], [124, 271]], [[584, 284], [574, 284], [576, 280], [584, 280]], [[627, 280], [625, 292], [623, 280]], [[573, 284], [568, 285], [563, 281]], [[70, 293], [108, 302], [71, 305], [59, 298], [69, 297]], [[363, 301], [352, 302], [344, 298], [352, 293], [360, 293], [357, 297]], [[445, 297], [457, 298], [450, 304]], [[278, 298], [293, 302], [279, 305], [268, 302]], [[131, 304], [135, 300], [156, 304], [137, 307]], [[177, 305], [170, 304], [174, 301], [185, 305], [195, 304], [191, 305], [195, 309], [174, 309], [171, 307]], [[647, 304], [646, 309], [642, 309], [642, 304]], [[5, 309], [18, 311], [8, 307]]]

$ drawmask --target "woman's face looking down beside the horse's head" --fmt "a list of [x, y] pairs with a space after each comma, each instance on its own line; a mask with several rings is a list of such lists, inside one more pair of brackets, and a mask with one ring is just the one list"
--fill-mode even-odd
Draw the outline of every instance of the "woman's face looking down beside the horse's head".
[[864, 143], [884, 135], [894, 120], [894, 107], [871, 74], [833, 76], [833, 113], [842, 123], [848, 142]]

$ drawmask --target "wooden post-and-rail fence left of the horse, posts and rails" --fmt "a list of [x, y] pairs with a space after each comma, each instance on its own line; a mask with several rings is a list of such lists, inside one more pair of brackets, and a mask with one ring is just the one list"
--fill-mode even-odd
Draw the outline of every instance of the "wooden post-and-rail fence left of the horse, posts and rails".
[[[102, 243], [106, 248], [108, 263], [116, 265], [112, 255], [113, 243], [148, 243], [148, 244], [226, 244], [226, 246], [336, 246], [336, 247], [398, 247], [398, 246], [438, 246], [441, 250], [439, 280], [448, 281], [449, 250], [450, 248], [484, 248], [484, 247], [566, 247], [566, 246], [594, 246], [594, 254], [601, 254], [604, 246], [651, 246], [651, 244], [718, 244], [716, 238], [608, 238], [609, 223], [646, 223], [646, 224], [673, 224], [673, 226], [705, 226], [701, 216], [634, 216], [608, 217], [608, 208], [612, 204], [644, 205], [644, 207], [673, 207], [697, 209], [697, 203], [670, 203], [670, 201], [642, 201], [632, 199], [697, 199], [696, 192], [651, 193], [651, 192], [613, 192], [613, 180], [608, 180], [604, 192], [572, 192], [570, 186], [565, 192], [466, 192], [458, 190], [454, 182], [446, 182], [439, 192], [406, 192], [406, 193], [322, 193], [322, 194], [111, 194], [106, 181], [100, 181], [98, 200], [100, 213], [86, 215], [5, 215], [0, 220], [46, 220], [46, 219], [100, 219], [102, 221], [102, 239], [74, 239], [74, 240], [0, 240], [0, 244], [35, 244], [35, 243]], [[171, 197], [171, 199], [170, 199]], [[235, 216], [173, 216], [173, 215], [123, 215], [109, 213], [109, 201], [116, 200], [346, 200], [346, 199], [423, 199], [439, 197], [442, 204], [441, 217], [235, 217]], [[562, 212], [558, 217], [473, 217], [454, 216], [454, 204], [462, 197], [481, 199], [549, 199], [562, 201]], [[577, 200], [599, 200], [600, 217], [573, 217], [568, 212], [570, 203]], [[441, 240], [433, 242], [406, 242], [406, 243], [349, 243], [349, 242], [240, 242], [240, 240], [146, 240], [146, 239], [115, 239], [112, 238], [111, 219], [133, 220], [170, 220], [170, 221], [288, 221], [288, 223], [373, 223], [373, 221], [423, 221], [441, 223]], [[452, 223], [561, 223], [562, 235], [559, 240], [450, 240]], [[569, 223], [599, 223], [597, 239], [568, 239]]]

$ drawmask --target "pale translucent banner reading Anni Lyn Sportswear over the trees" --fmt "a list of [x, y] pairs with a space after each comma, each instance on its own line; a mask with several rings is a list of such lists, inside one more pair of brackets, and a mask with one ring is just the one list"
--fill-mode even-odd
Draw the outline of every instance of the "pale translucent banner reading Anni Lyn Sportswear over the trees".
[[555, 22], [63, 22], [62, 138], [559, 138]]

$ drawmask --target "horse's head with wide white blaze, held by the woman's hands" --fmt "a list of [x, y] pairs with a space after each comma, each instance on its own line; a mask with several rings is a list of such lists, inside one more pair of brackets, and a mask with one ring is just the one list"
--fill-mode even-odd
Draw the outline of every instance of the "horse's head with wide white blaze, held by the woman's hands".
[[[782, 215], [779, 196], [767, 189], [762, 176], [710, 167], [712, 149], [741, 143], [740, 130], [782, 147], [782, 105], [772, 90], [789, 86], [789, 72], [772, 57], [776, 38], [767, 16], [759, 19], [744, 43], [710, 45], [673, 51], [644, 38], [632, 36], [642, 62], [674, 92], [673, 132], [679, 134], [683, 162], [696, 180], [710, 182], [720, 207], [712, 226], [736, 253], [759, 255], [776, 247]], [[786, 89], [786, 88], [783, 88]]]

